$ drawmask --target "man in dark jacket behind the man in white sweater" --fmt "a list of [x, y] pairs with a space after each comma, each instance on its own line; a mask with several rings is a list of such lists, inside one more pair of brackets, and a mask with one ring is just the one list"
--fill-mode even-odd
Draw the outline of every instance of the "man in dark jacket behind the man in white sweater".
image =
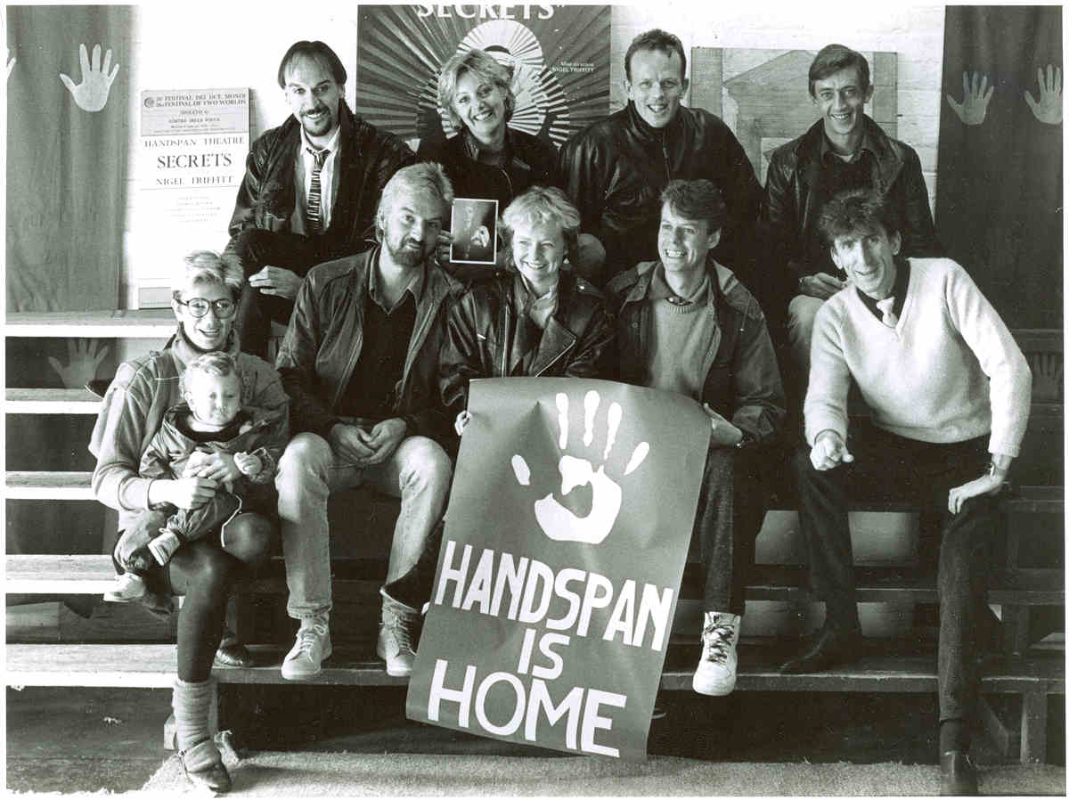
[[[803, 386], [814, 319], [824, 301], [846, 286], [846, 274], [832, 263], [817, 229], [824, 203], [849, 189], [877, 189], [902, 220], [902, 256], [943, 255], [920, 159], [865, 114], [872, 91], [864, 56], [842, 45], [821, 49], [809, 66], [809, 96], [821, 118], [777, 148], [769, 163], [761, 216], [787, 264], [779, 302], [790, 298], [787, 339]], [[781, 308], [768, 310], [778, 316]]]

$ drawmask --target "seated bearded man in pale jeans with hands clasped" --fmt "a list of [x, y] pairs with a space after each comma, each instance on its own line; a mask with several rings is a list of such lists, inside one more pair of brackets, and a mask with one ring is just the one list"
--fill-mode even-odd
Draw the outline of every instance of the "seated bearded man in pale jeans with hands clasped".
[[452, 200], [439, 165], [399, 170], [375, 216], [378, 246], [313, 267], [297, 291], [278, 354], [296, 433], [279, 460], [278, 512], [286, 611], [300, 620], [283, 678], [317, 675], [330, 655], [327, 501], [353, 486], [401, 498], [377, 651], [388, 674], [412, 673], [419, 610], [390, 588], [423, 553], [452, 478], [438, 350], [461, 286], [430, 261]]

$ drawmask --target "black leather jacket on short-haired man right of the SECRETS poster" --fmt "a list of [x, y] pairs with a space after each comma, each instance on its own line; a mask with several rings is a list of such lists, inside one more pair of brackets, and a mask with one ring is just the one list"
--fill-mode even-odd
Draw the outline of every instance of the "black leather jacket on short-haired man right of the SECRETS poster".
[[661, 191], [677, 178], [707, 178], [721, 189], [729, 219], [718, 260], [734, 264], [749, 248], [761, 185], [731, 129], [700, 108], [680, 108], [657, 129], [629, 103], [566, 141], [557, 169], [583, 215], [583, 231], [605, 247], [607, 276], [657, 258]]

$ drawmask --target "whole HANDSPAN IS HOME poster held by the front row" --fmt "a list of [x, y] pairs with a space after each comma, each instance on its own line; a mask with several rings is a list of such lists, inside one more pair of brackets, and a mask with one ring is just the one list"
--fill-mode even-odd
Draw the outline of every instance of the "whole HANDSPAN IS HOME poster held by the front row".
[[410, 719], [645, 758], [709, 421], [610, 381], [472, 381]]

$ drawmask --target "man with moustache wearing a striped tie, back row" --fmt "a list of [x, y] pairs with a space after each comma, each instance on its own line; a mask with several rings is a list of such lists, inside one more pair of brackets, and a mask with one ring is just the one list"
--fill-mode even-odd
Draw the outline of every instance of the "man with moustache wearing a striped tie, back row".
[[252, 143], [230, 219], [248, 283], [237, 309], [242, 350], [265, 356], [270, 322], [285, 324], [313, 265], [373, 244], [383, 187], [415, 154], [345, 103], [345, 67], [323, 42], [297, 42], [278, 84], [293, 116]]

